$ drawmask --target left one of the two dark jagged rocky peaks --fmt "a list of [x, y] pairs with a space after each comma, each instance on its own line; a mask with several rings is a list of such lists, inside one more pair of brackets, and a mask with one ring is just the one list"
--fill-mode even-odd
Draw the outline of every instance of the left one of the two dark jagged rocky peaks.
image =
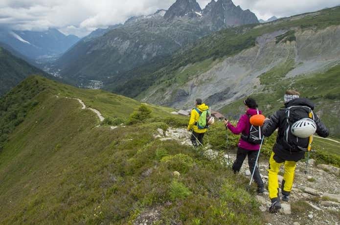
[[164, 15], [164, 19], [173, 19], [175, 17], [182, 17], [185, 15], [195, 14], [201, 12], [202, 9], [196, 0], [177, 0], [170, 6]]

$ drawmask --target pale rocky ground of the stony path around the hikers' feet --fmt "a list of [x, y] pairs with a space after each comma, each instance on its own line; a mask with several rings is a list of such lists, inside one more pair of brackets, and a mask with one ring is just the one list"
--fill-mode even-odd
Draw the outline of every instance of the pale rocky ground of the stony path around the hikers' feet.
[[[182, 145], [192, 145], [190, 133], [185, 129], [169, 128], [166, 132], [157, 130], [155, 138], [161, 141], [176, 140]], [[211, 149], [206, 149], [206, 157], [214, 159], [220, 154]], [[224, 156], [227, 159], [227, 155]], [[229, 154], [230, 162], [236, 158], [235, 154]], [[260, 173], [268, 185], [268, 160], [259, 161]], [[295, 181], [289, 203], [282, 202], [280, 212], [272, 214], [268, 212], [270, 200], [268, 192], [257, 195], [256, 199], [260, 203], [259, 209], [264, 213], [268, 221], [267, 225], [339, 225], [340, 224], [340, 169], [330, 165], [316, 164], [313, 159], [309, 160], [307, 174], [305, 174], [306, 164], [298, 162], [295, 171]], [[283, 167], [279, 172], [279, 184], [283, 177]], [[250, 171], [247, 159], [240, 171], [241, 174], [248, 176]], [[156, 210], [157, 211], [157, 210]], [[159, 215], [150, 212], [152, 215]], [[156, 216], [157, 217], [157, 216]], [[147, 217], [146, 217], [147, 218]], [[137, 224], [152, 224], [152, 220], [138, 219]]]

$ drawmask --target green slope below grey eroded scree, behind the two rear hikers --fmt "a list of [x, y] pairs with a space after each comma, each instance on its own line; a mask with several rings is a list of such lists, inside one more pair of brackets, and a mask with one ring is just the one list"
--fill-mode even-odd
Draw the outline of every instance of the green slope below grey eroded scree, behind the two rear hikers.
[[[269, 116], [283, 106], [283, 95], [287, 89], [301, 92], [316, 103], [315, 112], [330, 128], [332, 136], [340, 136], [340, 65], [323, 73], [300, 75], [295, 78], [278, 78], [282, 67], [276, 68], [260, 77], [265, 87], [262, 91], [252, 94], [264, 113]], [[265, 79], [264, 79], [265, 78]], [[263, 80], [262, 80], [263, 79]], [[269, 82], [268, 82], [269, 81]], [[264, 83], [265, 82], [265, 83]], [[221, 109], [221, 112], [236, 118], [243, 111], [243, 100], [233, 102]]]

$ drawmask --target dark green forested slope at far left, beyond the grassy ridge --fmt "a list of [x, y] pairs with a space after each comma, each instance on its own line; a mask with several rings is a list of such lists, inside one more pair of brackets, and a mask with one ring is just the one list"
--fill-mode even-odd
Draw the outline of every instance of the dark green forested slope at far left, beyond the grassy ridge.
[[32, 74], [47, 76], [44, 71], [29, 65], [0, 47], [0, 95], [6, 93]]

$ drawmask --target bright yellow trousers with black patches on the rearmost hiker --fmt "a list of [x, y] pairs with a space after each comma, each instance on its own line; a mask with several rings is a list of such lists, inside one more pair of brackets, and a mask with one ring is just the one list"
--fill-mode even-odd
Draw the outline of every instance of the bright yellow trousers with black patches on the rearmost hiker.
[[[278, 161], [276, 161], [275, 159]], [[295, 161], [285, 161], [280, 158], [274, 157], [272, 152], [271, 158], [269, 159], [269, 170], [268, 170], [268, 191], [269, 198], [278, 198], [278, 177], [277, 174], [280, 170], [281, 165], [284, 163], [284, 175], [281, 185], [282, 193], [289, 195], [292, 191], [296, 162]]]

